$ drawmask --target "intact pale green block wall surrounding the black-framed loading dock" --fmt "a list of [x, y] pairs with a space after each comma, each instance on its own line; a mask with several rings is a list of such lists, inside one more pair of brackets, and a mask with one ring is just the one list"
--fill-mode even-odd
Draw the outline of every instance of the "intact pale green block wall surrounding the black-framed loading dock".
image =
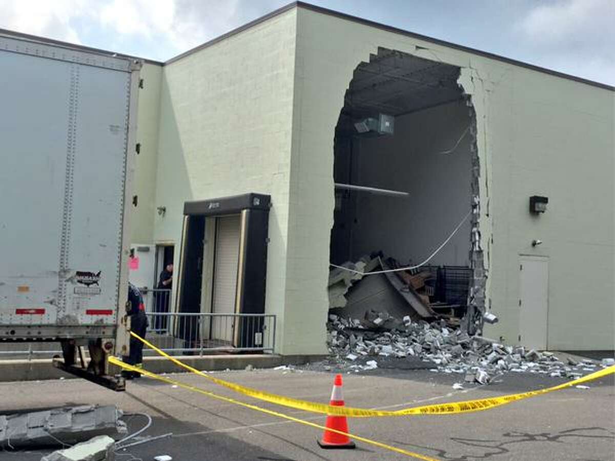
[[[296, 10], [165, 63], [161, 89], [154, 241], [179, 249], [183, 204], [270, 194], [266, 313], [284, 353]], [[175, 251], [179, 267], [180, 251]], [[309, 335], [309, 331], [301, 334]], [[292, 340], [292, 339], [290, 339]]]

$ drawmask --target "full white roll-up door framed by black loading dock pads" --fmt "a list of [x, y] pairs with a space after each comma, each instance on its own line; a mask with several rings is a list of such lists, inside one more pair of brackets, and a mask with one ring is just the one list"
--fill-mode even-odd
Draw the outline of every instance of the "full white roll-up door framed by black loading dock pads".
[[[216, 218], [213, 313], [229, 314], [235, 312], [240, 235], [241, 221], [239, 215]], [[212, 339], [231, 342], [234, 329], [233, 320], [232, 316], [214, 317], [212, 319]]]

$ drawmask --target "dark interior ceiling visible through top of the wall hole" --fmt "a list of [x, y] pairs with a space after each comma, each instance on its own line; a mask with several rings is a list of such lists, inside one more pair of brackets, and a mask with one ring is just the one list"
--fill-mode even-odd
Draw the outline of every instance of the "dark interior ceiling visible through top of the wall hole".
[[[434, 57], [435, 59], [435, 57]], [[344, 97], [338, 130], [378, 113], [400, 116], [459, 100], [459, 67], [379, 48], [354, 71]]]

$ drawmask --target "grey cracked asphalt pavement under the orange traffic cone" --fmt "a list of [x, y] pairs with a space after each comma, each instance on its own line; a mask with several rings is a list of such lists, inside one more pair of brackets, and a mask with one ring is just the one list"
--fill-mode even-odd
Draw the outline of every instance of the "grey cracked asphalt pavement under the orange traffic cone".
[[[327, 403], [333, 374], [319, 371], [255, 370], [217, 372], [216, 377], [274, 393]], [[236, 395], [202, 377], [169, 375], [220, 395], [232, 396], [293, 417], [322, 424], [308, 414]], [[427, 369], [376, 369], [344, 375], [346, 404], [400, 409], [419, 404], [486, 398], [550, 387], [564, 379], [510, 373], [485, 387], [464, 385], [461, 375]], [[615, 459], [613, 375], [591, 382], [589, 389], [569, 388], [503, 407], [471, 414], [349, 419], [349, 430], [408, 451], [440, 460], [577, 460]], [[84, 380], [0, 383], [0, 413], [79, 404], [117, 404], [124, 412], [153, 417], [148, 436], [172, 432], [120, 452], [118, 461], [147, 461], [167, 454], [175, 461], [397, 460], [410, 459], [365, 443], [352, 451], [325, 451], [317, 429], [218, 401], [181, 387], [141, 378], [127, 391], [114, 393]], [[129, 430], [143, 427], [139, 415], [126, 416]], [[50, 449], [2, 451], [0, 461], [39, 461]]]

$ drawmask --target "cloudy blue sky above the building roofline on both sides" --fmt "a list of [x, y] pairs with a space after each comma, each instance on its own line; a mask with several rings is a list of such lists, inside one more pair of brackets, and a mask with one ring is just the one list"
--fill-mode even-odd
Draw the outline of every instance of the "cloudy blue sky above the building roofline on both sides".
[[[0, 0], [0, 28], [165, 61], [290, 0]], [[615, 86], [615, 0], [311, 0]]]

